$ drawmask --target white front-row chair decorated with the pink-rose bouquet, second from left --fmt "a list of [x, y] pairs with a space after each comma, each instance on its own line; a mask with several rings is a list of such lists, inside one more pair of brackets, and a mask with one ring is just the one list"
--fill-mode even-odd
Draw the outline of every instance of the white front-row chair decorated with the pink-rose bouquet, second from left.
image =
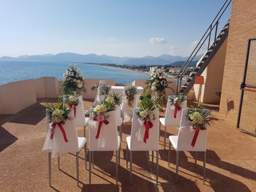
[[99, 138], [96, 139], [98, 122], [93, 121], [93, 108], [90, 109], [89, 123], [89, 183], [91, 183], [91, 163], [93, 151], [116, 151], [116, 184], [118, 179], [118, 162], [120, 164], [120, 137], [117, 135], [116, 112], [108, 112], [109, 124], [102, 124]]

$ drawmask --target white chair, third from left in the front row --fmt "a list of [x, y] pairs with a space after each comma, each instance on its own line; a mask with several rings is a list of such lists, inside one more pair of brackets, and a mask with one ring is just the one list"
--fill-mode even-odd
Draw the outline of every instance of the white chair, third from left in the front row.
[[143, 141], [145, 134], [145, 126], [141, 126], [138, 121], [137, 112], [139, 108], [135, 108], [133, 111], [133, 119], [131, 124], [131, 136], [126, 137], [126, 168], [128, 168], [128, 150], [130, 150], [130, 184], [132, 177], [132, 151], [152, 151], [152, 166], [154, 162], [154, 151], [157, 151], [157, 183], [158, 183], [158, 135], [159, 135], [159, 109], [156, 108], [154, 114], [156, 116], [155, 120], [151, 120], [153, 127], [149, 129], [149, 137], [146, 143]]

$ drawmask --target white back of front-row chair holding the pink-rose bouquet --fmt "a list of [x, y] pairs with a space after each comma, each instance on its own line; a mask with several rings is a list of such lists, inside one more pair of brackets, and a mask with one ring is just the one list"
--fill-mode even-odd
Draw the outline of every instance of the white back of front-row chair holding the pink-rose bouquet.
[[108, 112], [108, 125], [102, 123], [99, 138], [96, 139], [99, 121], [93, 121], [93, 108], [90, 108], [89, 122], [89, 151], [117, 151], [118, 135], [116, 125], [116, 111]]

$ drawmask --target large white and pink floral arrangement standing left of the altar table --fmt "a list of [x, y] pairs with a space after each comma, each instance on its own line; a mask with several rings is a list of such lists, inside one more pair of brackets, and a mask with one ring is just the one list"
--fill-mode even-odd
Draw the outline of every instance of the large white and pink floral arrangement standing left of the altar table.
[[79, 73], [79, 69], [77, 68], [77, 65], [74, 64], [74, 67], [72, 64], [69, 65], [69, 67], [66, 70], [66, 73], [63, 73], [63, 79], [61, 87], [63, 88], [65, 95], [74, 95], [74, 94], [81, 94], [81, 92], [86, 91], [84, 87], [84, 73]]

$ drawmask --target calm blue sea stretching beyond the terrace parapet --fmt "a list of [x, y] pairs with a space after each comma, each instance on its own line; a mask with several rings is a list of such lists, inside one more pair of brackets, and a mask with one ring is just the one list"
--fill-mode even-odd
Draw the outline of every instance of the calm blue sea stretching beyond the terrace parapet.
[[[37, 79], [40, 77], [56, 77], [62, 79], [70, 63], [49, 61], [0, 61], [0, 84], [24, 79]], [[76, 63], [71, 63], [76, 64]], [[116, 83], [132, 83], [136, 80], [146, 80], [149, 75], [93, 64], [77, 63], [84, 78], [113, 79]]]

